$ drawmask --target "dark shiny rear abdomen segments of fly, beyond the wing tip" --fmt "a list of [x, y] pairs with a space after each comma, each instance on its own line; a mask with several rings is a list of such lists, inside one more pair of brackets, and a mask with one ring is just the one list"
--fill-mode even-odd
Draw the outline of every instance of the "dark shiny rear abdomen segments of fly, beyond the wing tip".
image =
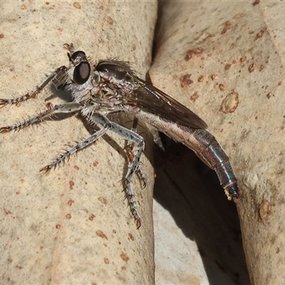
[[196, 130], [193, 135], [198, 142], [194, 149], [197, 156], [217, 173], [228, 199], [238, 197], [237, 178], [232, 170], [229, 157], [214, 138], [214, 135], [201, 129]]

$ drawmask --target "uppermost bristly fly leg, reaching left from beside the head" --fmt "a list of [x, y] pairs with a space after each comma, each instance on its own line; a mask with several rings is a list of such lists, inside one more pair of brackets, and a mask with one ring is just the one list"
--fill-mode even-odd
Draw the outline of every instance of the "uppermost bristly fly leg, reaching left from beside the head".
[[[3, 107], [4, 105], [8, 105], [8, 104], [19, 104], [21, 102], [24, 102], [28, 99], [31, 98], [36, 98], [36, 96], [41, 93], [41, 91], [43, 90], [43, 88], [45, 88], [48, 83], [50, 83], [53, 78], [56, 78], [59, 74], [63, 74], [66, 73], [68, 68], [66, 68], [66, 66], [61, 66], [59, 68], [56, 68], [55, 71], [53, 71], [53, 73], [51, 73], [47, 78], [45, 78], [40, 84], [38, 84], [38, 86], [36, 86], [36, 88], [34, 88], [33, 90], [29, 91], [28, 93], [21, 95], [17, 98], [11, 98], [11, 99], [0, 99], [0, 107]], [[67, 74], [67, 73], [66, 73]]]

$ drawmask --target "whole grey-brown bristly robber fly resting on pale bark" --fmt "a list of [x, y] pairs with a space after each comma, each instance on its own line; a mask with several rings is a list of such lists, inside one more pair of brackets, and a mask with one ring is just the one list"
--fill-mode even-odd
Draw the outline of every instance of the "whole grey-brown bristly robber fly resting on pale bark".
[[[206, 165], [217, 172], [219, 182], [224, 187], [228, 199], [238, 197], [237, 178], [234, 176], [229, 157], [214, 136], [206, 130], [207, 124], [201, 118], [161, 90], [138, 78], [127, 63], [106, 60], [92, 65], [86, 53], [76, 51], [72, 43], [70, 45], [66, 43], [64, 48], [68, 51], [68, 67], [56, 68], [34, 90], [21, 97], [0, 99], [2, 106], [21, 103], [35, 98], [51, 81], [56, 88], [66, 88], [70, 91], [73, 98], [73, 101], [69, 103], [48, 104], [47, 110], [33, 115], [21, 123], [0, 128], [0, 133], [21, 130], [29, 125], [41, 123], [56, 113], [81, 113], [83, 117], [87, 118], [88, 123], [102, 127], [95, 131], [90, 138], [79, 142], [59, 155], [56, 160], [41, 168], [41, 171], [48, 172], [56, 168], [73, 153], [82, 150], [105, 135], [108, 130], [120, 135], [128, 140], [127, 151], [130, 162], [127, 175], [123, 180], [125, 197], [128, 199], [130, 212], [139, 228], [141, 219], [130, 183], [136, 173], [141, 187], [145, 187], [145, 177], [140, 170], [140, 157], [145, 149], [145, 142], [136, 132], [138, 120], [142, 120], [173, 140], [182, 142], [194, 150]], [[107, 118], [110, 113], [122, 111], [131, 113], [135, 117], [131, 130]], [[133, 152], [135, 145], [138, 150]]]

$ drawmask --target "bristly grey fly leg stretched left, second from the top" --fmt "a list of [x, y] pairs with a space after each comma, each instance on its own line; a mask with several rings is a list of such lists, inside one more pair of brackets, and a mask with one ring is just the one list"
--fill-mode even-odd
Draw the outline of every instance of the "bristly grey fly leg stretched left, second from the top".
[[54, 115], [56, 113], [73, 113], [81, 110], [81, 108], [82, 105], [76, 102], [63, 103], [55, 106], [50, 105], [46, 111], [38, 113], [37, 115], [33, 115], [22, 122], [0, 128], [0, 133], [9, 133], [11, 130], [16, 131], [23, 128], [28, 128], [30, 125], [41, 123], [43, 120], [46, 120], [47, 118], [51, 117], [51, 115]]

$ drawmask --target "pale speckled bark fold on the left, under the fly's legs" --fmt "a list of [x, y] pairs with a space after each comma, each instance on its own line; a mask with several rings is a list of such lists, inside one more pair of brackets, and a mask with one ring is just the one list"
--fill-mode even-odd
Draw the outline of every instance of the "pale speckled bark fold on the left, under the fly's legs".
[[[63, 43], [73, 43], [94, 62], [113, 57], [133, 62], [142, 76], [149, 68], [155, 1], [1, 1], [0, 6], [0, 98], [22, 95], [54, 68], [68, 65]], [[48, 89], [36, 100], [2, 108], [1, 127], [45, 110], [49, 95]], [[108, 135], [49, 175], [39, 169], [90, 136], [81, 120], [48, 120], [0, 136], [1, 284], [154, 283], [152, 138], [144, 131], [147, 187], [141, 190], [136, 177], [133, 182], [142, 216], [137, 230], [120, 182], [127, 167], [125, 142]]]

